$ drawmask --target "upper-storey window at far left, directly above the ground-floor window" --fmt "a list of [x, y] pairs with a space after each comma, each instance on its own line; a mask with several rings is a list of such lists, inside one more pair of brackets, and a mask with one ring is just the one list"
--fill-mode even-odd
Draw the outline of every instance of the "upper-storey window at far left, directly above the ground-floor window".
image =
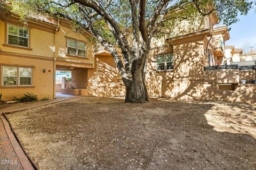
[[27, 28], [8, 24], [7, 43], [9, 45], [28, 47], [29, 33]]

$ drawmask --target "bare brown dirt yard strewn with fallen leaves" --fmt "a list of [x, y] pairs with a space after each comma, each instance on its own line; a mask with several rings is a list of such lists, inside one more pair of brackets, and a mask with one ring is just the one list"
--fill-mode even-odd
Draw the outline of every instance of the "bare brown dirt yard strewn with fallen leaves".
[[81, 97], [7, 115], [40, 169], [256, 169], [256, 107]]

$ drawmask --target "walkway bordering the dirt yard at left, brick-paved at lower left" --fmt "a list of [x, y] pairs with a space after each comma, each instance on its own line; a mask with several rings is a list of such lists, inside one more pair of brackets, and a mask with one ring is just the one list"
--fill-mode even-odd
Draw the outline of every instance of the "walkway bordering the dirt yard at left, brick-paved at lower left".
[[[35, 103], [19, 103], [14, 104], [10, 107], [0, 110], [0, 113], [13, 113], [19, 111], [25, 111], [27, 109], [45, 106], [49, 104], [58, 103], [60, 101], [66, 101], [74, 99], [81, 96], [75, 97], [62, 97], [58, 99], [52, 99], [47, 101], [37, 101]], [[25, 151], [21, 148], [19, 142], [14, 136], [12, 129], [7, 122], [6, 118], [0, 114], [0, 169], [2, 170], [32, 170], [36, 169], [33, 164], [31, 164], [29, 158], [25, 154]]]

